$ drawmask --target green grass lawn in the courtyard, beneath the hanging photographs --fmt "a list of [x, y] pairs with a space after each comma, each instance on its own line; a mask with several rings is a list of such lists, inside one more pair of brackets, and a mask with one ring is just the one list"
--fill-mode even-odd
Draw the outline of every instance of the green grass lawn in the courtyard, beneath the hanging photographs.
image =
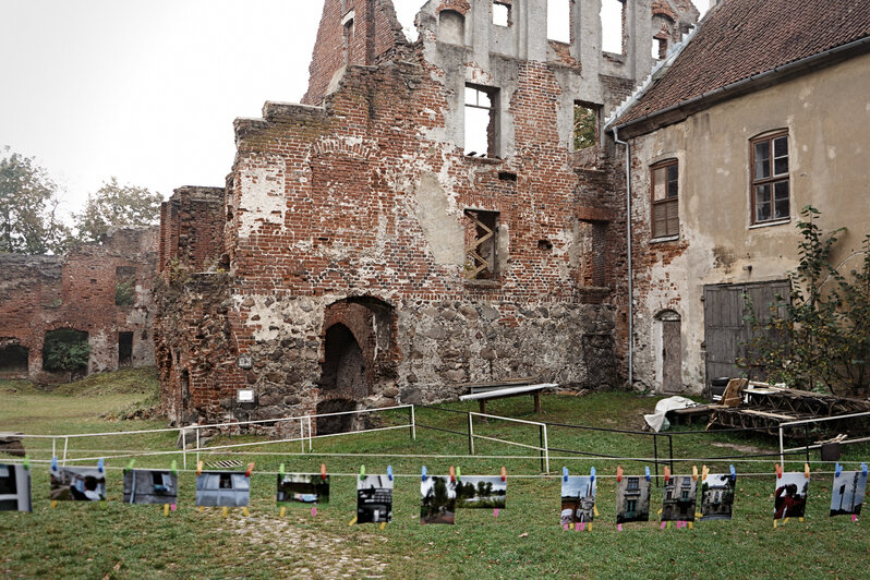
[[[77, 384], [53, 392], [27, 384], [0, 382], [3, 406], [0, 431], [40, 434], [125, 432], [165, 427], [161, 421], [118, 421], [125, 409], [147, 404], [155, 384], [147, 373], [104, 375], [94, 384]], [[628, 394], [595, 394], [583, 398], [547, 396], [545, 414], [532, 412], [531, 398], [494, 401], [490, 412], [530, 421], [637, 430], [642, 414], [651, 412], [656, 398]], [[470, 404], [446, 406], [474, 410]], [[104, 415], [100, 418], [100, 415]], [[399, 425], [407, 412], [378, 414], [372, 426]], [[467, 432], [464, 413], [418, 409], [421, 424]], [[686, 431], [679, 427], [676, 432]], [[491, 420], [474, 422], [476, 434], [539, 445], [536, 426]], [[547, 430], [551, 447], [549, 478], [541, 478], [537, 451], [476, 439], [475, 457], [468, 457], [466, 436], [418, 427], [416, 440], [409, 430], [383, 431], [315, 439], [313, 450], [302, 452], [299, 443], [263, 444], [250, 435], [227, 436], [209, 445], [255, 443], [252, 447], [203, 454], [205, 461], [239, 459], [256, 462], [252, 478], [251, 515], [233, 510], [222, 518], [218, 510], [200, 512], [194, 507], [194, 475], [180, 474], [179, 509], [164, 517], [157, 506], [121, 504], [122, 471], [129, 459], [108, 459], [108, 495], [105, 506], [48, 502], [48, 468], [33, 466], [34, 512], [0, 512], [0, 575], [57, 578], [234, 578], [289, 577], [478, 577], [478, 578], [673, 578], [751, 577], [866, 578], [870, 564], [870, 537], [866, 524], [846, 517], [829, 518], [830, 474], [814, 474], [805, 522], [789, 521], [773, 529], [772, 506], [775, 458], [753, 461], [708, 461], [738, 471], [734, 520], [696, 522], [693, 530], [658, 529], [655, 511], [662, 488], [652, 487], [653, 521], [615, 525], [616, 464], [627, 473], [642, 473], [640, 459], [653, 455], [652, 437], [621, 433]], [[674, 456], [710, 458], [773, 452], [772, 437], [708, 433], [674, 437]], [[660, 457], [666, 456], [667, 438], [658, 437]], [[68, 458], [129, 455], [136, 450], [174, 449], [172, 433], [70, 439]], [[31, 445], [34, 459], [50, 458], [50, 440]], [[638, 461], [590, 459], [557, 451], [621, 456]], [[866, 446], [847, 449], [846, 469], [870, 459]], [[495, 458], [491, 456], [515, 456]], [[343, 456], [343, 457], [342, 457]], [[410, 456], [410, 457], [409, 457]], [[0, 456], [3, 457], [3, 456]], [[136, 467], [168, 467], [173, 456], [141, 457]], [[814, 460], [818, 452], [812, 454]], [[803, 458], [792, 458], [788, 469], [802, 469]], [[317, 472], [326, 463], [330, 472], [330, 503], [316, 516], [309, 508], [289, 509], [279, 517], [275, 505], [275, 472], [285, 463], [288, 472]], [[89, 462], [85, 463], [89, 464]], [[188, 456], [193, 469], [195, 454]], [[375, 525], [349, 525], [355, 516], [355, 476], [360, 464], [367, 473], [384, 473], [392, 466], [397, 476], [394, 519], [384, 530]], [[508, 470], [507, 508], [460, 510], [456, 525], [420, 525], [419, 473], [446, 473], [450, 466], [463, 474], [497, 474]], [[675, 464], [677, 473], [690, 473], [692, 462]], [[559, 524], [558, 473], [566, 466], [584, 474], [595, 466], [600, 517], [593, 531], [566, 532]], [[699, 470], [701, 464], [698, 463]], [[813, 463], [813, 471], [831, 471]], [[747, 473], [760, 473], [748, 476]], [[341, 474], [341, 475], [338, 475]], [[525, 475], [527, 478], [522, 478]]]

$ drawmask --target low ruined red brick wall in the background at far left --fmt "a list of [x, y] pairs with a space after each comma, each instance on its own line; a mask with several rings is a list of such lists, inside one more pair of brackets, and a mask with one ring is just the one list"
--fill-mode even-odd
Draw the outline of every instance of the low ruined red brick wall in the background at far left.
[[117, 229], [65, 256], [0, 254], [0, 377], [62, 382], [44, 343], [73, 333], [90, 348], [81, 374], [154, 365], [157, 228]]

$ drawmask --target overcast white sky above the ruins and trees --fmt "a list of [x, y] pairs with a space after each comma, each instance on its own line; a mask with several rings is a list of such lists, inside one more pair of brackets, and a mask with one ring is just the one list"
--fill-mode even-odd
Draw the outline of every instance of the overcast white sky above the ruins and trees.
[[[693, 0], [705, 11], [709, 0]], [[424, 0], [394, 0], [410, 29]], [[76, 210], [111, 176], [223, 185], [232, 120], [298, 101], [321, 0], [0, 0], [0, 147]]]

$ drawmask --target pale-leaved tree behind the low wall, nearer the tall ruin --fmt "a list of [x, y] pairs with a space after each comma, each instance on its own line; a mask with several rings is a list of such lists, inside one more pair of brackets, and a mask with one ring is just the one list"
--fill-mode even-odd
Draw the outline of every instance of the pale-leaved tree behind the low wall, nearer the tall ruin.
[[112, 177], [104, 182], [95, 193], [88, 194], [85, 208], [73, 214], [78, 239], [83, 242], [98, 242], [116, 226], [150, 226], [160, 217], [159, 193], [145, 188], [121, 185]]

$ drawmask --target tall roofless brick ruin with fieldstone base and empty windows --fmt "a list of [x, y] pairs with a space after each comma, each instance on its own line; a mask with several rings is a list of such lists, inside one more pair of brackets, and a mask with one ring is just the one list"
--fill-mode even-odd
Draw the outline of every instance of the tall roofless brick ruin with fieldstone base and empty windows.
[[389, 0], [325, 1], [303, 104], [238, 119], [226, 188], [164, 204], [171, 418], [624, 380], [624, 172], [597, 123], [650, 73], [651, 44], [666, 52], [698, 12], [623, 2], [609, 53], [602, 0], [564, 4], [558, 41], [560, 2], [430, 0], [410, 43]]

